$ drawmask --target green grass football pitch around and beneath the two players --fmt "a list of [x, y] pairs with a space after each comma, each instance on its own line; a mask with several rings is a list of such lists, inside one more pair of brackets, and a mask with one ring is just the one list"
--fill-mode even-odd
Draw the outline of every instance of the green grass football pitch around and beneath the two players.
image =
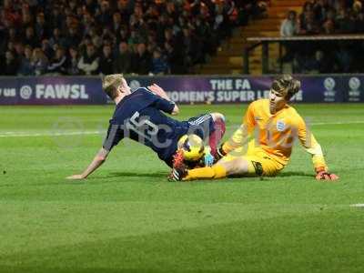
[[[120, 143], [87, 180], [113, 106], [0, 107], [0, 272], [364, 272], [364, 105], [295, 106], [339, 182], [296, 144], [278, 177], [168, 182]], [[246, 105], [218, 111], [227, 136]]]

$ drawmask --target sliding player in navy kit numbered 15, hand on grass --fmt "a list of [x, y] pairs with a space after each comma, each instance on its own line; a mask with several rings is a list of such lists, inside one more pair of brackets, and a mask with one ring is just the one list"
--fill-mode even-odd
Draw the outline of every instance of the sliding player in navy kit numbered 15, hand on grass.
[[187, 121], [177, 121], [162, 113], [163, 111], [177, 115], [179, 109], [161, 87], [157, 85], [140, 87], [131, 93], [130, 87], [121, 74], [105, 76], [103, 89], [116, 103], [106, 140], [82, 174], [67, 178], [88, 177], [106, 161], [111, 149], [124, 137], [152, 148], [169, 167], [173, 167], [174, 157], [177, 158], [178, 163], [181, 162], [181, 154], [177, 153], [177, 142], [181, 136], [194, 134], [203, 140], [208, 138], [212, 156], [206, 155], [206, 163], [207, 166], [212, 165], [211, 158], [217, 155], [218, 141], [225, 133], [223, 115], [212, 113], [192, 117]]

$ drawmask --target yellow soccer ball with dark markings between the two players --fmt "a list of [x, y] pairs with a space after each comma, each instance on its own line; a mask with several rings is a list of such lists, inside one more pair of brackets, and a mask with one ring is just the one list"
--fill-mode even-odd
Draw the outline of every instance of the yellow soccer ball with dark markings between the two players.
[[198, 161], [204, 156], [204, 142], [201, 137], [194, 134], [181, 136], [177, 148], [183, 152], [186, 161]]

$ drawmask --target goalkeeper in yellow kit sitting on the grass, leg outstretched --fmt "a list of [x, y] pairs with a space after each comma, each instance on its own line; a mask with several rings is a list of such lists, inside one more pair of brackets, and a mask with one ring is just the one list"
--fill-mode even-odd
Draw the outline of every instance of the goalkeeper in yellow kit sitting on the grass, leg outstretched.
[[[173, 169], [174, 179], [274, 177], [287, 166], [297, 137], [312, 157], [316, 178], [338, 179], [329, 173], [321, 147], [303, 118], [288, 105], [299, 89], [300, 82], [292, 76], [283, 75], [274, 80], [269, 99], [258, 99], [248, 106], [243, 124], [218, 149], [221, 159], [214, 166], [191, 170], [177, 167]], [[254, 139], [248, 141], [249, 136]]]

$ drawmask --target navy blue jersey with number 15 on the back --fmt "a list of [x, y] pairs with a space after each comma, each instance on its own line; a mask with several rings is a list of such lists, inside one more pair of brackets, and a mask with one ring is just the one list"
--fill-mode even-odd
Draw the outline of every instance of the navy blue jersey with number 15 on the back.
[[145, 87], [123, 98], [110, 119], [103, 147], [110, 151], [121, 139], [129, 137], [152, 148], [162, 160], [177, 149], [177, 140], [187, 134], [189, 123], [177, 121], [171, 114], [175, 104], [153, 94]]

